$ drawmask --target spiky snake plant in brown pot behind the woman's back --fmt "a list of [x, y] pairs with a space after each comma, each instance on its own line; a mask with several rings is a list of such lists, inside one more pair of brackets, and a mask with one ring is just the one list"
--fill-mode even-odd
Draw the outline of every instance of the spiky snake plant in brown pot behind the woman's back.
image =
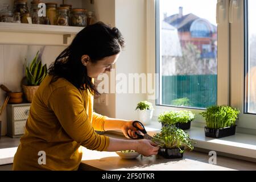
[[32, 102], [36, 90], [38, 89], [40, 83], [47, 76], [47, 66], [42, 65], [41, 55], [39, 51], [36, 53], [34, 60], [31, 64], [25, 63], [26, 79], [23, 82], [23, 90], [28, 102]]

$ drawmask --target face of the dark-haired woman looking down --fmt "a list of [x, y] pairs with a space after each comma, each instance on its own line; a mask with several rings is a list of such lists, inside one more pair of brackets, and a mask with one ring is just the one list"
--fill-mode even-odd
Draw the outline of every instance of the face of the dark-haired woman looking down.
[[87, 75], [91, 78], [97, 78], [98, 75], [105, 72], [110, 72], [112, 65], [115, 64], [119, 57], [119, 53], [117, 55], [104, 57], [104, 59], [97, 61], [97, 63], [92, 63], [89, 60], [87, 55], [82, 56], [82, 64], [86, 65]]

